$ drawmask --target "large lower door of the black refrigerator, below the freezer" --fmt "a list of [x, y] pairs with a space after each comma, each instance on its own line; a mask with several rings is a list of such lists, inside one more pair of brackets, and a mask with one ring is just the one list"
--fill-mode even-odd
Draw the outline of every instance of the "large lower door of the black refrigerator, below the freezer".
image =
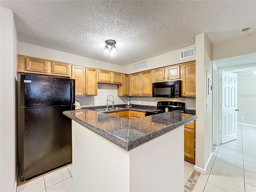
[[74, 106], [21, 108], [19, 137], [20, 179], [25, 180], [72, 161], [70, 118]]

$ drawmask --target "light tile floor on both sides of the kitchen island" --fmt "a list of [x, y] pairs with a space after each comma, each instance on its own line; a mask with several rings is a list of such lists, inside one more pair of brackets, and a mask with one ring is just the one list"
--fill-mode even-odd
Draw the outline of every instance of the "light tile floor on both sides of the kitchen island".
[[[238, 139], [216, 146], [206, 174], [184, 161], [184, 186], [189, 182], [184, 191], [256, 192], [256, 128], [238, 125]], [[72, 192], [72, 164], [19, 183], [17, 192]]]

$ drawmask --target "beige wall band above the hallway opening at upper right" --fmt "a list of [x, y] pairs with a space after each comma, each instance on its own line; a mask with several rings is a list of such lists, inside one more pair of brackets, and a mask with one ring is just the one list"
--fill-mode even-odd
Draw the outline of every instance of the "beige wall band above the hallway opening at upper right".
[[212, 44], [212, 61], [256, 52], [256, 32]]

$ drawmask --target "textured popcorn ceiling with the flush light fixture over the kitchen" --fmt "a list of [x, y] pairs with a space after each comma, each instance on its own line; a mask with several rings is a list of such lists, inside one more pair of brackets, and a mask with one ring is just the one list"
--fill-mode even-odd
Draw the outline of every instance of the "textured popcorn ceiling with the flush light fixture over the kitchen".
[[[118, 65], [139, 62], [195, 44], [256, 30], [256, 1], [62, 0], [0, 1], [14, 12], [18, 39]], [[118, 52], [105, 55], [105, 40]], [[114, 70], [114, 69], [113, 69]]]

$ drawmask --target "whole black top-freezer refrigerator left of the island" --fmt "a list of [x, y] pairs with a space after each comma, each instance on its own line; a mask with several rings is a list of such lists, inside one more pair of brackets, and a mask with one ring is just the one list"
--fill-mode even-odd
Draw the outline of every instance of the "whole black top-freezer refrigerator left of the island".
[[20, 74], [19, 178], [27, 180], [72, 161], [72, 128], [63, 111], [75, 109], [75, 80]]

